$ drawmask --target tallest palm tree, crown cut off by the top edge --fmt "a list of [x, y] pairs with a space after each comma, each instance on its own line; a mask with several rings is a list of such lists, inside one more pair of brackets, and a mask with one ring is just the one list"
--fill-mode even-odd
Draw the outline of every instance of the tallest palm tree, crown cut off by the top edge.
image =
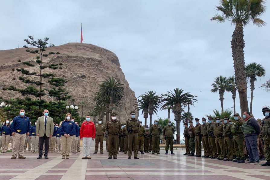
[[265, 0], [220, 0], [220, 6], [216, 6], [216, 9], [217, 11], [221, 11], [222, 15], [216, 14], [211, 18], [211, 21], [222, 23], [228, 20], [235, 25], [231, 48], [241, 114], [249, 108], [246, 94], [247, 81], [245, 74], [243, 27], [251, 21], [259, 27], [265, 26], [265, 22], [259, 18], [265, 12], [264, 4]]

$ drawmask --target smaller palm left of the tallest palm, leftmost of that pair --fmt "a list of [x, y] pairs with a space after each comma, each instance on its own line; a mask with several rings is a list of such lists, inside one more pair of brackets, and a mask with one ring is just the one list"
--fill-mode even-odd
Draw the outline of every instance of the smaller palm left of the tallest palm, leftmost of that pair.
[[211, 92], [219, 92], [219, 100], [221, 102], [221, 112], [223, 112], [223, 100], [224, 100], [224, 92], [230, 91], [230, 84], [226, 77], [219, 76], [215, 78], [214, 83], [211, 85], [213, 89]]

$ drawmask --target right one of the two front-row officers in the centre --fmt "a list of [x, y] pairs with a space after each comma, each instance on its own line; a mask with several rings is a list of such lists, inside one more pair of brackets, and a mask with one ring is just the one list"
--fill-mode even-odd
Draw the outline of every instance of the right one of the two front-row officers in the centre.
[[132, 145], [134, 148], [134, 159], [139, 159], [137, 156], [137, 141], [140, 122], [135, 118], [135, 111], [130, 112], [131, 119], [127, 120], [126, 127], [128, 132], [128, 158], [131, 159]]

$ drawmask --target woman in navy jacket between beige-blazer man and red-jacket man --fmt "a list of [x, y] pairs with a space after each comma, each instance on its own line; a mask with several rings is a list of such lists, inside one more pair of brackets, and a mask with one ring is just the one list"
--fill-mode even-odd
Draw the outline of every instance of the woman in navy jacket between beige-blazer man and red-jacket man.
[[67, 113], [59, 128], [62, 159], [69, 159], [73, 135], [76, 134], [75, 123], [71, 121], [71, 114]]

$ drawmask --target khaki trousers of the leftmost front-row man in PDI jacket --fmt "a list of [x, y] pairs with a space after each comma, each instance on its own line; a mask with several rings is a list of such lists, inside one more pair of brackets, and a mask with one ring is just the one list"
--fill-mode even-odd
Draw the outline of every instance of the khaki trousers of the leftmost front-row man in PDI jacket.
[[14, 133], [13, 137], [13, 148], [12, 148], [12, 156], [19, 157], [24, 156], [24, 142], [26, 139], [25, 134]]

